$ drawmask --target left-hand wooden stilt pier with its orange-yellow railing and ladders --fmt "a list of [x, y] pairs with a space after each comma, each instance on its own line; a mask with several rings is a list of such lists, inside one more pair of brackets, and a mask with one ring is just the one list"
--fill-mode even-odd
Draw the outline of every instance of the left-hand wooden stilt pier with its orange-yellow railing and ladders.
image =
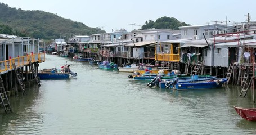
[[[45, 61], [45, 54], [38, 53], [0, 61], [0, 109], [6, 113], [12, 112], [8, 97], [19, 91], [26, 94], [26, 87], [37, 83], [40, 87], [38, 63]], [[2, 106], [1, 106], [2, 105]]]

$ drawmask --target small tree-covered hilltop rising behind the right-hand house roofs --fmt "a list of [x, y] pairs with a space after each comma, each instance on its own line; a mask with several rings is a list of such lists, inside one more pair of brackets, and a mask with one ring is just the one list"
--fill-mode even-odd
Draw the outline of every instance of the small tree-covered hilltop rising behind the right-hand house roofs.
[[145, 25], [142, 25], [142, 29], [173, 29], [179, 30], [178, 27], [180, 26], [188, 26], [190, 24], [186, 24], [185, 22], [180, 22], [176, 18], [170, 17], [161, 17], [156, 19], [156, 21], [146, 21]]

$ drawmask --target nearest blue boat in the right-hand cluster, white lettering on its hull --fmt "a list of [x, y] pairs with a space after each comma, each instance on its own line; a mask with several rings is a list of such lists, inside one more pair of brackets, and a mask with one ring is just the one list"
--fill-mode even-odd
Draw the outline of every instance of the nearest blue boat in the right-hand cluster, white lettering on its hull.
[[190, 89], [209, 89], [221, 87], [223, 83], [227, 81], [227, 78], [216, 78], [203, 81], [181, 82], [173, 83], [169, 85], [169, 88], [176, 90], [190, 90]]

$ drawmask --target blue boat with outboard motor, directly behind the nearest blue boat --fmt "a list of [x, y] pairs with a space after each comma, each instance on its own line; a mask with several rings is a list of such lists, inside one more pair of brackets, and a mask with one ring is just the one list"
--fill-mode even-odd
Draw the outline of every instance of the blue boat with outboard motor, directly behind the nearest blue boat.
[[[198, 82], [203, 80], [212, 80], [216, 79], [216, 76], [209, 76], [209, 75], [192, 75], [191, 77], [183, 77], [178, 79], [178, 83], [185, 83], [185, 82]], [[176, 78], [173, 79], [163, 79], [159, 83], [160, 88], [167, 88], [168, 85], [172, 84], [174, 81], [177, 81]]]

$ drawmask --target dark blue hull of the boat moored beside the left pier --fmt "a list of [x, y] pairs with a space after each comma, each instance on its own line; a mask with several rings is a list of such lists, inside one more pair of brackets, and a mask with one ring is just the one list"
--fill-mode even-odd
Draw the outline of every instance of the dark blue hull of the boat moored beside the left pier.
[[38, 73], [40, 79], [66, 79], [69, 73]]

